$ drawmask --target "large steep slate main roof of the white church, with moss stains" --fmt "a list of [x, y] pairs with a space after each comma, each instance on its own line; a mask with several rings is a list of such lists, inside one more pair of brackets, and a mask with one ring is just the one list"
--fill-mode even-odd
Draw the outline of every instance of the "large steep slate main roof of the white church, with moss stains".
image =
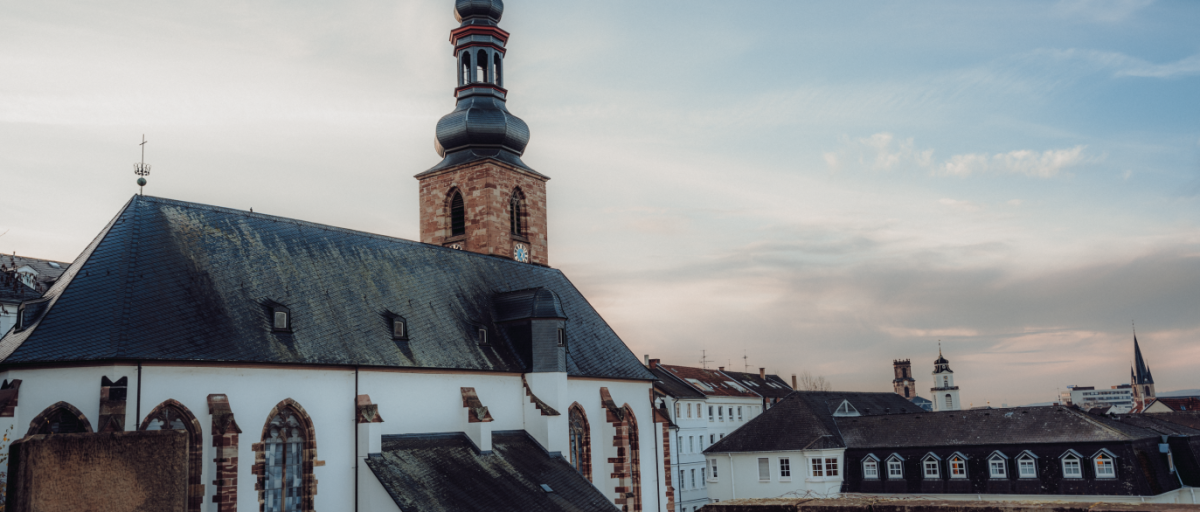
[[[162, 360], [530, 367], [494, 327], [498, 294], [552, 290], [570, 375], [653, 380], [562, 271], [283, 217], [134, 195], [0, 338], [4, 366]], [[553, 302], [553, 301], [552, 301]], [[271, 303], [293, 332], [272, 332]], [[408, 323], [391, 339], [390, 319]], [[481, 347], [478, 329], [493, 339]]]

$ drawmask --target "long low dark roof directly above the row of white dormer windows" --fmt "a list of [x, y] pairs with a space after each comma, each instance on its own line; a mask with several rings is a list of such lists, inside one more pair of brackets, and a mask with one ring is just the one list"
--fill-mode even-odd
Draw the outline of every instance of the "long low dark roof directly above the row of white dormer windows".
[[840, 417], [838, 428], [852, 448], [1124, 441], [1158, 435], [1062, 406]]

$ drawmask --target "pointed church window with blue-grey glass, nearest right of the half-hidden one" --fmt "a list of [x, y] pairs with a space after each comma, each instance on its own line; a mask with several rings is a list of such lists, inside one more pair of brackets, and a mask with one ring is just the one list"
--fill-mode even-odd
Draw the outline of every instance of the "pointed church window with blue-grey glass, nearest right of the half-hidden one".
[[317, 442], [312, 420], [295, 400], [271, 410], [263, 427], [263, 442], [254, 445], [253, 472], [258, 475], [262, 512], [310, 512], [317, 494]]

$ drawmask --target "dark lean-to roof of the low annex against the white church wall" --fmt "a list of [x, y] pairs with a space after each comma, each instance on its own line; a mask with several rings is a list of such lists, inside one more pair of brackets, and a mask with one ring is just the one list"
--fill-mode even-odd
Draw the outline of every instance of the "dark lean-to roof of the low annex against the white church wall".
[[491, 454], [479, 454], [461, 433], [385, 435], [382, 456], [366, 462], [406, 512], [617, 510], [524, 432], [493, 433]]

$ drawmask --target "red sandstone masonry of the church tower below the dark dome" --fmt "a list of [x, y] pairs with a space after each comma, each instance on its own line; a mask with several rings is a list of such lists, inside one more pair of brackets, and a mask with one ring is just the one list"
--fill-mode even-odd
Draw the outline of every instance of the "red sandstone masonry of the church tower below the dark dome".
[[[420, 179], [421, 241], [437, 246], [460, 242], [463, 249], [512, 258], [516, 242], [527, 243], [529, 261], [550, 265], [546, 230], [546, 177], [497, 161], [473, 162]], [[524, 194], [524, 236], [509, 230], [509, 199]], [[458, 189], [466, 209], [467, 234], [450, 236], [450, 194]]]

